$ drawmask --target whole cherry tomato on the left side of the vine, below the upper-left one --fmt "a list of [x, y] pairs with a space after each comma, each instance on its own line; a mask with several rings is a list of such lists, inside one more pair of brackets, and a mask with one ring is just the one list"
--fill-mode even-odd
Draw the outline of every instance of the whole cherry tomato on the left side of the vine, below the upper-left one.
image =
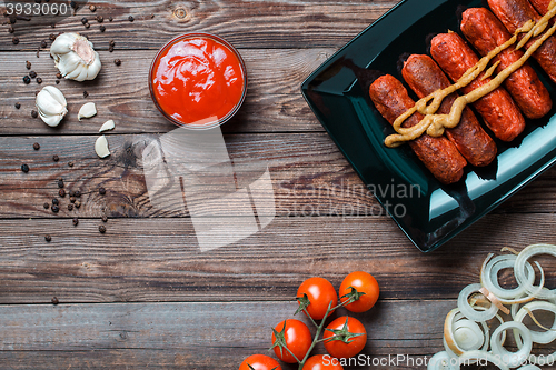
[[[275, 330], [278, 334], [282, 333], [286, 340], [286, 347], [296, 356], [296, 358], [301, 361], [307, 354], [309, 347], [312, 344], [312, 336], [309, 328], [305, 323], [296, 319], [288, 319], [281, 321], [276, 326]], [[276, 336], [272, 333], [272, 344], [276, 343]], [[280, 348], [276, 346], [274, 348], [276, 356], [287, 363], [296, 363], [296, 359], [291, 353], [284, 348], [280, 353]]]

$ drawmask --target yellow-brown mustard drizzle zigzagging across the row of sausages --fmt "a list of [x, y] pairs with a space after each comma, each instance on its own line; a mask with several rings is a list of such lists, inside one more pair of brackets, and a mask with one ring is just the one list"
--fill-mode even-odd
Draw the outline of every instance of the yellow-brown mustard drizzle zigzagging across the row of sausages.
[[[436, 114], [436, 111], [440, 107], [444, 98], [454, 93], [458, 89], [461, 89], [469, 83], [471, 83], [487, 67], [490, 60], [495, 58], [498, 53], [509, 48], [517, 42], [518, 36], [520, 33], [526, 33], [526, 36], [516, 46], [516, 50], [523, 48], [533, 37], [537, 37], [543, 33], [547, 28], [548, 21], [556, 17], [556, 0], [553, 0], [548, 7], [548, 12], [539, 19], [537, 23], [534, 20], [529, 20], [523, 27], [516, 30], [514, 36], [505, 43], [493, 49], [487, 56], [483, 57], [477, 64], [469, 68], [461, 78], [454, 84], [447, 87], [446, 89], [439, 89], [429, 96], [420, 99], [415, 103], [415, 106], [408, 109], [404, 114], [399, 116], [396, 121], [394, 121], [394, 130], [397, 133], [390, 134], [386, 138], [385, 144], [389, 148], [396, 148], [406, 141], [415, 140], [419, 138], [425, 132], [431, 137], [440, 137], [444, 134], [445, 129], [455, 128], [459, 120], [461, 119], [461, 113], [464, 108], [473, 103], [484, 96], [496, 90], [512, 73], [523, 67], [523, 64], [529, 59], [529, 57], [548, 39], [556, 32], [556, 23], [550, 27], [539, 39], [537, 39], [528, 49], [524, 52], [524, 56], [519, 58], [512, 66], [508, 66], [503, 71], [500, 71], [495, 78], [493, 78], [488, 83], [473, 90], [471, 92], [458, 97], [454, 104], [451, 106], [450, 112], [448, 114]], [[486, 72], [483, 79], [494, 74], [494, 71], [499, 62], [492, 66]], [[425, 116], [423, 120], [419, 121], [414, 127], [403, 128], [401, 124], [415, 112], [419, 112]]]

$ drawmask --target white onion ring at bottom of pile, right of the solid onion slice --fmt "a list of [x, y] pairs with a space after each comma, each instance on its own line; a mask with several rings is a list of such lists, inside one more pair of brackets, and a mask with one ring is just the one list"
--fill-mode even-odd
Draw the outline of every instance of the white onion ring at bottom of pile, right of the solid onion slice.
[[[520, 338], [523, 339], [523, 344], [517, 352], [509, 352], [502, 344], [502, 332], [507, 329], [515, 329], [519, 331], [516, 338], [520, 336]], [[520, 322], [517, 321], [504, 322], [502, 326], [496, 328], [496, 330], [493, 333], [493, 337], [490, 337], [490, 348], [493, 354], [497, 356], [499, 359], [509, 360], [507, 363], [508, 367], [517, 368], [518, 366], [522, 366], [527, 361], [530, 354], [530, 350], [533, 349], [533, 339], [530, 336], [530, 331], [529, 329], [527, 329], [526, 326], [524, 326]]]

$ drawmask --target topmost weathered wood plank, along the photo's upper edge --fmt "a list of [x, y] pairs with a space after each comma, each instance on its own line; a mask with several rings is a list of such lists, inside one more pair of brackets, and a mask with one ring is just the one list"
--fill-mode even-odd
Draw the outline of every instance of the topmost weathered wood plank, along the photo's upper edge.
[[[171, 38], [186, 32], [210, 32], [226, 38], [238, 48], [314, 48], [340, 47], [373, 23], [398, 1], [89, 1], [98, 10], [80, 9], [75, 17], [61, 21], [56, 29], [38, 21], [18, 21], [16, 32], [8, 33], [8, 26], [0, 32], [0, 50], [37, 50], [40, 41], [56, 32], [81, 32], [93, 39], [115, 39], [119, 49], [158, 49]], [[178, 9], [186, 13], [178, 18]], [[3, 12], [3, 7], [0, 8]], [[96, 16], [103, 22], [106, 32], [99, 31]], [[128, 17], [135, 17], [133, 22]], [[152, 16], [155, 16], [152, 18]], [[90, 19], [91, 28], [85, 29], [81, 18]], [[11, 42], [19, 37], [19, 44]]]

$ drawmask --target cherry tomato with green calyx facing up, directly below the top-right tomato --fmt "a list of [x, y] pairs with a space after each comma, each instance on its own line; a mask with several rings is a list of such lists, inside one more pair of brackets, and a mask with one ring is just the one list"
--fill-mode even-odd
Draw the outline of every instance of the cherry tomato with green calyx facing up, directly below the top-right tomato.
[[[345, 328], [346, 319], [347, 328]], [[357, 319], [344, 316], [330, 322], [328, 327], [326, 327], [326, 329], [329, 330], [325, 330], [325, 334], [322, 336], [322, 338], [325, 339], [325, 348], [328, 353], [338, 359], [345, 359], [356, 356], [367, 343], [367, 331], [365, 330], [363, 323]], [[336, 333], [331, 332], [330, 330], [335, 330]], [[351, 337], [353, 334], [361, 336]], [[345, 338], [347, 343], [341, 340], [326, 340], [334, 336]]]

